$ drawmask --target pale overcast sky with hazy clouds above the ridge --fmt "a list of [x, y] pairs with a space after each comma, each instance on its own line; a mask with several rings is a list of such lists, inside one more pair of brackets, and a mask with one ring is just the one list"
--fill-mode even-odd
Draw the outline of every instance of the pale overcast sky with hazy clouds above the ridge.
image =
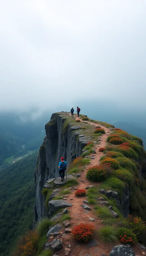
[[1, 109], [99, 98], [146, 108], [145, 0], [0, 1]]

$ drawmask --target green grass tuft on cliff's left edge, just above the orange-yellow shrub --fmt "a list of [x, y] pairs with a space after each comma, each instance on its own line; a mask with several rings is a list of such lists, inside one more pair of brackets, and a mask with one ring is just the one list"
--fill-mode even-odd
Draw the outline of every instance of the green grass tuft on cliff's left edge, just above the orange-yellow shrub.
[[42, 218], [40, 222], [37, 223], [37, 232], [39, 236], [44, 236], [49, 230], [49, 226], [52, 226], [53, 222], [48, 218]]

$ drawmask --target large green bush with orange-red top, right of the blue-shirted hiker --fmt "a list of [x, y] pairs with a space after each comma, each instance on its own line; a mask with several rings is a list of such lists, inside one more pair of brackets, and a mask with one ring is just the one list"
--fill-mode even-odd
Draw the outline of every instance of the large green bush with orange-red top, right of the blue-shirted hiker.
[[95, 165], [88, 168], [86, 177], [91, 181], [101, 181], [107, 177], [107, 172], [104, 166]]

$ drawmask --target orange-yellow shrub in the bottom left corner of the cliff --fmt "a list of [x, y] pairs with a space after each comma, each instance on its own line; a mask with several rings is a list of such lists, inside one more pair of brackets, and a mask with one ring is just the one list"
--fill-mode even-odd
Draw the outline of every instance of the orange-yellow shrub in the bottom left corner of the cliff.
[[27, 231], [23, 236], [19, 238], [19, 242], [16, 251], [13, 255], [15, 256], [34, 256], [37, 252], [39, 236], [37, 231]]

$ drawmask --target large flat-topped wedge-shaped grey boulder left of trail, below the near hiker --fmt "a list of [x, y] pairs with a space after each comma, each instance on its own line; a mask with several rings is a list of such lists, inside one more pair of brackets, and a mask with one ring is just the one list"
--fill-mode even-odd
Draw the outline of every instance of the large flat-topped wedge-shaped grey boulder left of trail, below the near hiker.
[[51, 214], [56, 212], [58, 209], [62, 209], [65, 207], [70, 207], [70, 206], [72, 206], [71, 203], [69, 203], [65, 200], [62, 200], [62, 199], [49, 201], [49, 211]]

